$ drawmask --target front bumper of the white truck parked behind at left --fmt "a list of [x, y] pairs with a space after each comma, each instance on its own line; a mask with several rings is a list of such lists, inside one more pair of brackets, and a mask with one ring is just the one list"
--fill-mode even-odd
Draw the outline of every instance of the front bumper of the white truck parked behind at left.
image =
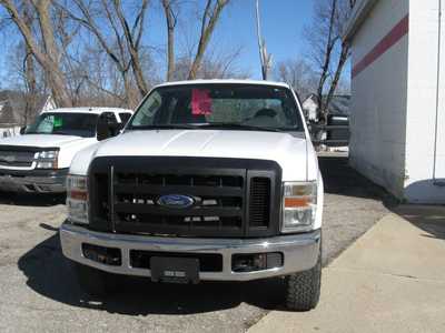
[[30, 193], [66, 192], [68, 169], [16, 171], [0, 169], [0, 191]]

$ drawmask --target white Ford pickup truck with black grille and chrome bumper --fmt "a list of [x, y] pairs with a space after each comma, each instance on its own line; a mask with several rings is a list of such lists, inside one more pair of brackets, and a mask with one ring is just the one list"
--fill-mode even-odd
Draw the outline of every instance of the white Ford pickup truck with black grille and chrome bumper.
[[121, 135], [72, 161], [60, 239], [80, 285], [279, 276], [289, 309], [315, 307], [324, 188], [309, 138], [287, 84], [156, 87]]

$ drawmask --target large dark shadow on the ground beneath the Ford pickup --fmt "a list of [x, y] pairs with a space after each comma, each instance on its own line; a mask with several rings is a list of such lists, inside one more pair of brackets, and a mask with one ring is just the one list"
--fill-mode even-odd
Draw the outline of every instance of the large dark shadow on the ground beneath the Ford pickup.
[[149, 279], [122, 276], [122, 287], [103, 299], [81, 291], [62, 256], [55, 234], [22, 255], [19, 269], [34, 292], [71, 306], [96, 309], [127, 315], [194, 314], [233, 309], [243, 302], [265, 310], [280, 307], [281, 279], [245, 283], [206, 282], [197, 285], [151, 283]]

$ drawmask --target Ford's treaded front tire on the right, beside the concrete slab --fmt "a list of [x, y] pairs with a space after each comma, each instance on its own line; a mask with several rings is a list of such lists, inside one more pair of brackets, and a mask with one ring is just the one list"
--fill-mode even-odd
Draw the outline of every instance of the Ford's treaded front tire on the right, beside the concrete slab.
[[322, 287], [322, 251], [317, 263], [308, 271], [286, 276], [286, 306], [309, 311], [318, 304]]

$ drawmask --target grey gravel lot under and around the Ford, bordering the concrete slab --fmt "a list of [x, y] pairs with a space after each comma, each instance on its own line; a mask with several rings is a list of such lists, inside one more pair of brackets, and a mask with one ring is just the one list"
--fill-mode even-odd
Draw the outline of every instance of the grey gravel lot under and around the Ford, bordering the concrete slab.
[[[350, 170], [347, 159], [322, 158], [320, 167], [326, 264], [387, 210], [385, 193]], [[2, 332], [243, 332], [281, 306], [279, 280], [184, 286], [128, 278], [121, 293], [91, 299], [61, 255], [62, 203], [62, 198], [0, 194]]]

